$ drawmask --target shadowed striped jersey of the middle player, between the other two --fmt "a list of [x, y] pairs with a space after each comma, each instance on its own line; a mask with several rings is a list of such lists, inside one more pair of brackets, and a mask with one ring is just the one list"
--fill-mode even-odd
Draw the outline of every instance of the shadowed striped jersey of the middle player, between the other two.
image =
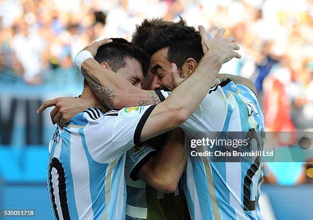
[[[156, 141], [159, 145], [163, 145], [165, 140], [159, 138]], [[190, 219], [187, 217], [189, 212], [181, 181], [174, 193], [164, 193], [137, 178], [139, 170], [155, 153], [155, 149], [147, 143], [143, 143], [142, 147], [134, 146], [127, 151], [125, 163], [126, 220]]]

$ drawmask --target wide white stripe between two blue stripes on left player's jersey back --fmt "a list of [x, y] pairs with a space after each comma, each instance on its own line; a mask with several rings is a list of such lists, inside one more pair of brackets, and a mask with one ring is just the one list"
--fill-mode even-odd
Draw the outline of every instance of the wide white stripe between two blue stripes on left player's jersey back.
[[[76, 134], [75, 134], [76, 133]], [[79, 219], [93, 219], [93, 203], [90, 194], [90, 185], [86, 185], [83, 180], [89, 179], [89, 165], [84, 151], [81, 136], [77, 129], [71, 130], [71, 170], [74, 185], [75, 202]], [[79, 166], [76, 164], [79, 161]]]

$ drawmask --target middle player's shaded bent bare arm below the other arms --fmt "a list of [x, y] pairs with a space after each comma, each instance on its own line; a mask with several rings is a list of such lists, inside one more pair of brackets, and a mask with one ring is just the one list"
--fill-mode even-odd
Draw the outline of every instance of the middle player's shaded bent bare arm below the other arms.
[[175, 191], [187, 161], [184, 131], [176, 128], [166, 145], [141, 167], [137, 177], [165, 193]]

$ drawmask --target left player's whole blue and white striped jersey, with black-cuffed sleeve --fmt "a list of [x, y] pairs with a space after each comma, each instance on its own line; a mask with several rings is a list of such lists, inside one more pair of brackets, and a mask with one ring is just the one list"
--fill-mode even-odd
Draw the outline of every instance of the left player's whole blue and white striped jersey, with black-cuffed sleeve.
[[153, 107], [89, 108], [57, 126], [47, 175], [54, 219], [125, 219], [126, 151], [139, 143]]

